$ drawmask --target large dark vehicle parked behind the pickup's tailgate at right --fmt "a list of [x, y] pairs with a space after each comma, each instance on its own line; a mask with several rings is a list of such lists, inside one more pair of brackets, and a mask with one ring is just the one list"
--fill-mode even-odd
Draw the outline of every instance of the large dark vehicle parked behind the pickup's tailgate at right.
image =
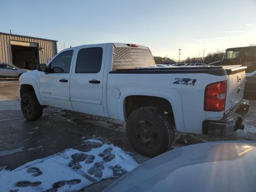
[[242, 65], [247, 67], [246, 73], [251, 73], [256, 70], [256, 46], [228, 48], [222, 61], [208, 65]]

